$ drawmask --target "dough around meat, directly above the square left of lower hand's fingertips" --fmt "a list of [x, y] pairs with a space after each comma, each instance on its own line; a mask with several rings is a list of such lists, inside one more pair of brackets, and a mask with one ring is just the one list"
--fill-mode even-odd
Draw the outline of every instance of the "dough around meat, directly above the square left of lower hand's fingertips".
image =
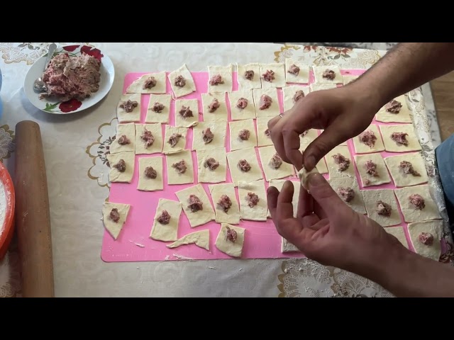
[[[240, 170], [238, 162], [240, 162], [241, 159], [245, 159], [249, 163], [250, 170], [248, 172]], [[235, 186], [238, 186], [238, 181], [252, 182], [263, 179], [262, 170], [258, 165], [257, 154], [255, 154], [254, 147], [228, 152], [227, 162], [228, 169], [230, 169], [232, 182], [235, 184]]]

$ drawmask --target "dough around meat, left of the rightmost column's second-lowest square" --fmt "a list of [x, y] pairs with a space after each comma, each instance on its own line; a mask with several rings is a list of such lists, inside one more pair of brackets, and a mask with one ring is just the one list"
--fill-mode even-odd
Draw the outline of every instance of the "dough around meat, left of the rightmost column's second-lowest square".
[[[389, 227], [392, 225], [400, 225], [402, 220], [399, 215], [399, 208], [397, 207], [396, 196], [392, 189], [377, 189], [377, 190], [363, 190], [362, 199], [366, 206], [367, 216], [375, 220], [382, 227]], [[377, 213], [377, 200], [391, 205], [391, 215], [389, 217], [378, 215]]]

